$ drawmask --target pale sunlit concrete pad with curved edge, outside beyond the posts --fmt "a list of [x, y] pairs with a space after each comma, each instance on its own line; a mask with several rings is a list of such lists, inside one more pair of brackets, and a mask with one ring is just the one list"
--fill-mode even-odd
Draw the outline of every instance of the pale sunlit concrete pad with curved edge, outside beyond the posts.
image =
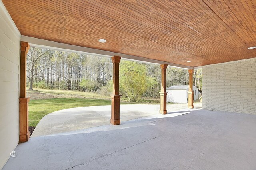
[[[188, 104], [167, 104], [167, 111], [185, 109]], [[202, 103], [194, 103], [195, 108], [202, 108]], [[128, 121], [159, 113], [159, 104], [120, 105], [120, 119]], [[55, 111], [45, 115], [31, 137], [75, 131], [90, 127], [110, 124], [111, 106], [77, 107]]]

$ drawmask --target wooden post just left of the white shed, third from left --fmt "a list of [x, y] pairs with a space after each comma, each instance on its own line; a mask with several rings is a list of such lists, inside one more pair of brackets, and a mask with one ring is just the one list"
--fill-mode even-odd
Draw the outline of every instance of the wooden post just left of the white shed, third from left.
[[161, 66], [161, 92], [160, 94], [160, 114], [167, 114], [166, 110], [166, 68], [167, 64], [162, 64]]

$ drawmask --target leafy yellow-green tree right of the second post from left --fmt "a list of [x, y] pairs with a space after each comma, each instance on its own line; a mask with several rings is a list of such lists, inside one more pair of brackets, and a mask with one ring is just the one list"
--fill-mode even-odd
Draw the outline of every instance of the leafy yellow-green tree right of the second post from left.
[[130, 101], [136, 101], [149, 86], [156, 84], [155, 78], [146, 75], [146, 66], [133, 61], [120, 63], [120, 91]]

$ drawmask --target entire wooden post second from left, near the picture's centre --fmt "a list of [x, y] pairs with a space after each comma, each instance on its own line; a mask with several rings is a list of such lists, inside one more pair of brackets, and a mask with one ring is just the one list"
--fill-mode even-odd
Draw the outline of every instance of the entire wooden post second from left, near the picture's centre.
[[111, 96], [111, 119], [112, 125], [120, 124], [120, 98], [119, 95], [119, 63], [121, 57], [111, 57], [113, 63], [113, 94]]

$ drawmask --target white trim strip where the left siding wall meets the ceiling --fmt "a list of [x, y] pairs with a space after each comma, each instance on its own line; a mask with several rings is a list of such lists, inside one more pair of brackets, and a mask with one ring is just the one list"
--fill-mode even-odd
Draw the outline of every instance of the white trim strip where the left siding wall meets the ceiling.
[[17, 36], [20, 37], [20, 31], [18, 30], [18, 28], [16, 27], [14, 21], [12, 20], [12, 17], [10, 16], [10, 14], [8, 13], [8, 11], [6, 10], [2, 0], [0, 0], [0, 16], [2, 16], [4, 18], [4, 20], [6, 21], [6, 23], [8, 24], [8, 26], [11, 28], [11, 30], [13, 31], [13, 33]]

